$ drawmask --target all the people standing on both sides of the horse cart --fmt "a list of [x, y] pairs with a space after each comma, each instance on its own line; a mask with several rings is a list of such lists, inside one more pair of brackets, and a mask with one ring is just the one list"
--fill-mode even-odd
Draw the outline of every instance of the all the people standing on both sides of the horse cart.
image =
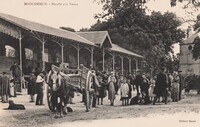
[[[2, 102], [8, 102], [9, 97], [16, 97], [16, 90], [13, 90], [14, 81], [19, 79], [19, 68], [17, 63], [11, 67], [11, 76], [6, 72], [2, 73], [0, 78], [0, 95]], [[145, 73], [137, 72], [137, 75], [129, 74], [124, 76], [116, 72], [96, 72], [97, 79], [101, 87], [93, 99], [93, 107], [103, 105], [103, 99], [108, 96], [110, 106], [115, 104], [116, 95], [120, 95], [120, 101], [123, 106], [134, 104], [155, 104], [157, 102], [179, 101], [181, 99], [181, 85], [178, 72], [172, 74], [166, 73], [166, 68], [154, 77], [147, 77]], [[47, 78], [47, 79], [46, 79]], [[48, 83], [48, 74], [44, 71], [30, 72], [26, 79], [27, 92], [30, 95], [30, 102], [35, 105], [43, 105], [43, 90], [45, 82]], [[22, 81], [22, 80], [21, 80]], [[136, 91], [136, 95], [132, 95]], [[34, 95], [37, 94], [36, 100]], [[84, 99], [83, 99], [84, 101]], [[71, 103], [73, 103], [71, 101]]]

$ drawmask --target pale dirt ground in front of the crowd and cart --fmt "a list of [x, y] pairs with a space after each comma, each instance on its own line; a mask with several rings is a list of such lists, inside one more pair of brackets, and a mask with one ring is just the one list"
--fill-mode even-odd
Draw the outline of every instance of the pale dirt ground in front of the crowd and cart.
[[[133, 95], [136, 93], [133, 92]], [[158, 123], [167, 125], [174, 123], [189, 127], [200, 127], [200, 95], [193, 91], [179, 102], [170, 102], [165, 105], [134, 105], [121, 106], [117, 95], [115, 106], [109, 106], [108, 98], [104, 99], [104, 105], [97, 105], [90, 112], [85, 112], [81, 101], [81, 94], [75, 95], [75, 104], [69, 106], [74, 110], [65, 117], [56, 119], [54, 113], [48, 109], [46, 97], [45, 105], [35, 106], [29, 103], [29, 96], [24, 90], [22, 95], [10, 98], [17, 104], [24, 104], [26, 110], [6, 110], [8, 103], [0, 103], [0, 127], [67, 127], [67, 126], [132, 126], [133, 124]], [[141, 122], [142, 121], [142, 122]], [[162, 121], [162, 122], [161, 122]], [[125, 124], [126, 123], [126, 124]], [[133, 123], [133, 124], [132, 124]], [[101, 127], [102, 127], [101, 126]]]

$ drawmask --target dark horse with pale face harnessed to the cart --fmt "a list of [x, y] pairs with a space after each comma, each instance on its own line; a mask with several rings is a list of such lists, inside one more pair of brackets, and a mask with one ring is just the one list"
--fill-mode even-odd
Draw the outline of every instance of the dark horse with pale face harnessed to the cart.
[[[67, 103], [72, 96], [73, 87], [60, 72], [53, 73], [50, 77], [52, 85], [52, 102], [56, 108], [55, 118], [61, 118], [67, 114]], [[63, 106], [64, 104], [64, 106]]]

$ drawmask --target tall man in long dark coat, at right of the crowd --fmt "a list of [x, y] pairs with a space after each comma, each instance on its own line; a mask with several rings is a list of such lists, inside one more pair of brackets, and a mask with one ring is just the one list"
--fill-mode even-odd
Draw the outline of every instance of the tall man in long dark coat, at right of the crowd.
[[166, 68], [163, 67], [161, 69], [161, 72], [157, 75], [157, 80], [156, 80], [155, 89], [154, 89], [154, 94], [156, 94], [156, 97], [153, 101], [154, 105], [157, 99], [160, 97], [163, 97], [165, 104], [167, 104], [168, 76], [165, 72], [166, 72]]

